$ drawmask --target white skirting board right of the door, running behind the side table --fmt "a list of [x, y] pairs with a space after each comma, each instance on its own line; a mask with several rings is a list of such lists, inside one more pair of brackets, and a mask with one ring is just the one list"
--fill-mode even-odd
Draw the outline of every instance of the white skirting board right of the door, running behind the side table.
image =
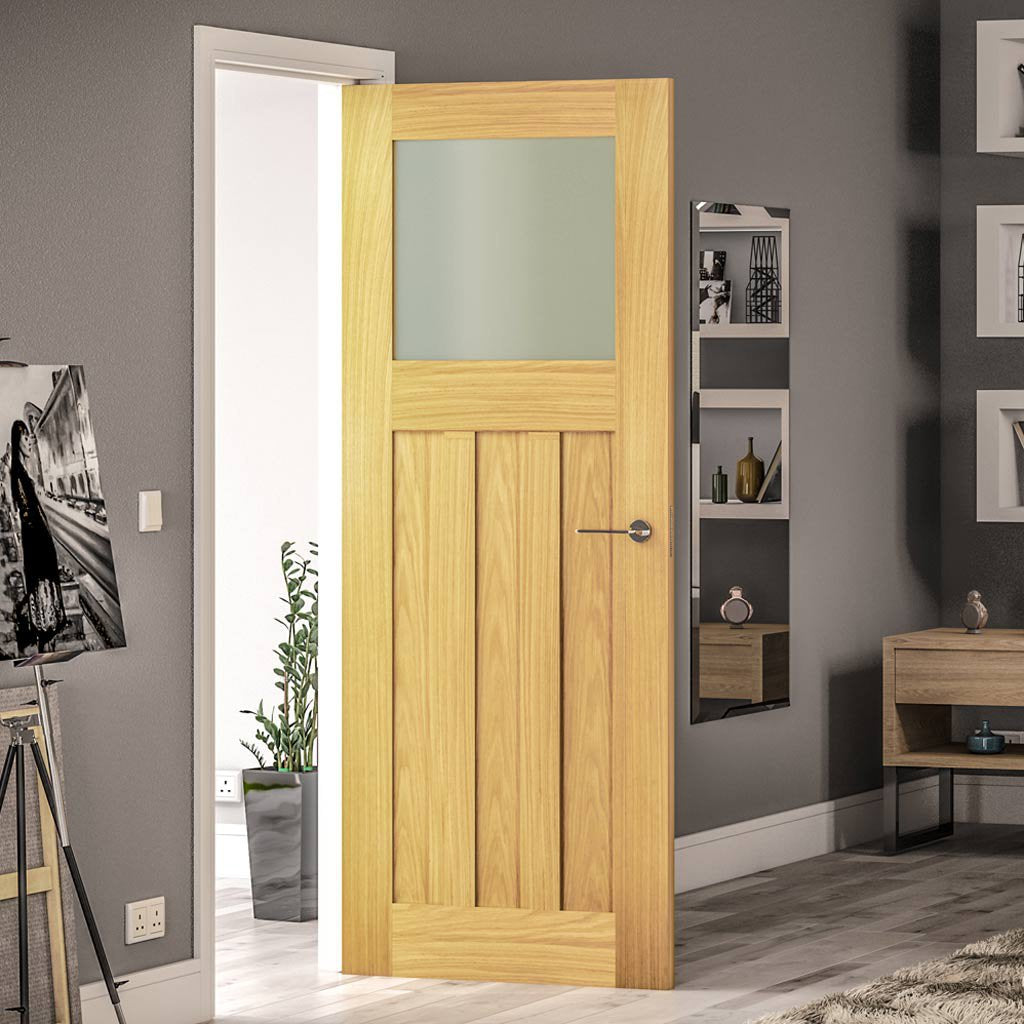
[[[929, 776], [901, 787], [901, 830], [935, 820], [938, 783]], [[1024, 777], [958, 775], [953, 791], [957, 821], [1024, 825]], [[676, 839], [676, 892], [767, 871], [882, 836], [882, 791], [827, 800], [763, 818]]]

